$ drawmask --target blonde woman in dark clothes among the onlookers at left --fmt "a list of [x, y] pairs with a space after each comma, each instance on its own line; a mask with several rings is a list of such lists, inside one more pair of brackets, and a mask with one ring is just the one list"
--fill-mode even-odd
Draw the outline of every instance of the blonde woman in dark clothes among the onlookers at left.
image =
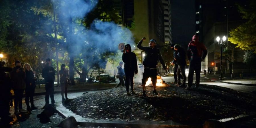
[[[25, 102], [27, 105], [27, 111], [36, 110], [37, 108], [34, 105], [34, 93], [36, 88], [36, 77], [35, 72], [31, 68], [31, 66], [28, 63], [25, 63], [23, 66], [24, 69], [26, 69], [26, 89], [25, 89]], [[31, 107], [29, 106], [29, 100]]]

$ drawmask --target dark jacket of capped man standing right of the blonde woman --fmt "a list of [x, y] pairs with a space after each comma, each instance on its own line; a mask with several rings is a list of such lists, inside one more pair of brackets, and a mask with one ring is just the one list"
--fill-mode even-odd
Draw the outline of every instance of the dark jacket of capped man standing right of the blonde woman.
[[53, 67], [45, 66], [42, 70], [42, 77], [44, 78], [45, 82], [54, 82], [55, 70]]

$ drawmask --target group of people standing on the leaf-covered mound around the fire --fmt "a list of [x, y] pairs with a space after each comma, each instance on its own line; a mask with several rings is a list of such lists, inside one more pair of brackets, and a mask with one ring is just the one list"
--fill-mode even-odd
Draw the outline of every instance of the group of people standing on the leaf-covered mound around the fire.
[[[157, 63], [160, 61], [160, 63], [163, 66], [163, 69], [166, 70], [165, 63], [163, 61], [162, 55], [160, 53], [160, 50], [156, 48], [156, 40], [152, 39], [149, 41], [149, 47], [143, 47], [141, 46], [142, 42], [146, 40], [146, 38], [143, 38], [137, 45], [137, 48], [141, 49], [145, 52], [145, 58], [143, 60], [143, 66], [144, 66], [144, 72], [143, 72], [143, 78], [142, 78], [142, 94], [143, 96], [146, 96], [145, 92], [145, 85], [148, 78], [151, 78], [152, 84], [153, 84], [153, 93], [158, 95], [156, 91], [156, 81], [157, 81]], [[174, 66], [174, 82], [173, 84], [176, 84], [176, 86], [179, 86], [181, 88], [185, 88], [185, 90], [190, 90], [193, 82], [193, 76], [194, 72], [196, 75], [196, 81], [195, 81], [195, 88], [197, 89], [200, 84], [200, 73], [201, 73], [201, 62], [205, 59], [207, 55], [207, 49], [204, 46], [203, 43], [199, 42], [198, 35], [194, 35], [192, 37], [191, 42], [188, 44], [187, 48], [187, 57], [189, 60], [189, 75], [188, 75], [188, 84], [186, 86], [186, 74], [185, 74], [185, 67], [187, 65], [186, 63], [186, 51], [181, 48], [181, 46], [177, 44], [172, 44], [170, 46], [171, 49], [174, 50], [173, 56], [174, 59], [172, 61], [172, 66]], [[118, 78], [120, 80], [119, 85], [126, 86], [127, 95], [131, 95], [129, 93], [129, 86], [131, 86], [131, 92], [135, 94], [133, 90], [133, 76], [134, 74], [138, 73], [137, 69], [137, 59], [135, 53], [131, 52], [131, 46], [127, 44], [125, 46], [125, 49], [123, 50], [123, 62], [125, 63], [124, 69], [125, 73], [122, 71], [122, 65], [123, 62], [120, 62], [118, 69]], [[208, 73], [211, 73], [210, 69], [208, 69]], [[124, 83], [124, 76], [126, 78]], [[182, 82], [181, 82], [182, 79]]]

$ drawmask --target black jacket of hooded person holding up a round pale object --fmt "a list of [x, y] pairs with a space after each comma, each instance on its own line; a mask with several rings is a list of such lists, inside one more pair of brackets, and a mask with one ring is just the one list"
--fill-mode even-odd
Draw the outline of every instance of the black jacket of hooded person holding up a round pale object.
[[135, 53], [129, 52], [123, 54], [124, 70], [138, 71], [137, 58]]

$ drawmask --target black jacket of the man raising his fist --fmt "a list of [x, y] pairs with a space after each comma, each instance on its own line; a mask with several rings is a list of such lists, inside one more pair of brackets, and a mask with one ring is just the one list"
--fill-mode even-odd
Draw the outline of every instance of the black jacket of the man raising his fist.
[[156, 69], [156, 65], [158, 60], [162, 64], [163, 68], [166, 69], [164, 60], [160, 53], [160, 50], [157, 48], [143, 47], [141, 46], [143, 40], [141, 40], [137, 47], [145, 52], [145, 59], [143, 60], [144, 67], [154, 68]]

